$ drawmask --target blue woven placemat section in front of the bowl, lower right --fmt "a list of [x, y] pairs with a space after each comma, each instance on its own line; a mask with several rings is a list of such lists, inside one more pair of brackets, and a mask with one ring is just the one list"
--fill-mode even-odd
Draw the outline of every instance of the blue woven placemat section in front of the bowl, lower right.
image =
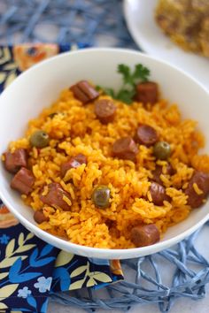
[[[205, 224], [205, 227], [208, 226], [209, 222]], [[99, 299], [90, 290], [86, 297], [83, 296], [83, 291], [76, 291], [71, 294], [53, 294], [50, 300], [86, 309], [87, 312], [101, 308], [127, 311], [135, 304], [156, 303], [162, 313], [169, 312], [179, 298], [200, 300], [205, 297], [205, 284], [209, 282], [209, 263], [194, 246], [198, 233], [199, 230], [178, 245], [152, 256], [121, 261], [124, 273], [127, 268], [135, 272], [135, 281], [127, 278], [115, 285], [106, 286], [104, 299]], [[170, 284], [162, 279], [166, 265], [175, 268], [174, 274], [172, 271], [166, 272], [166, 276], [171, 275]]]

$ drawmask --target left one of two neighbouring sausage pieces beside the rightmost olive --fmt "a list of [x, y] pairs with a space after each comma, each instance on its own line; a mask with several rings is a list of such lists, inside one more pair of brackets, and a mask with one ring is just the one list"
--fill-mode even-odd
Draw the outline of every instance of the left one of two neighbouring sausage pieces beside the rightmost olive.
[[138, 148], [131, 137], [122, 137], [115, 141], [112, 146], [112, 155], [122, 159], [135, 161]]

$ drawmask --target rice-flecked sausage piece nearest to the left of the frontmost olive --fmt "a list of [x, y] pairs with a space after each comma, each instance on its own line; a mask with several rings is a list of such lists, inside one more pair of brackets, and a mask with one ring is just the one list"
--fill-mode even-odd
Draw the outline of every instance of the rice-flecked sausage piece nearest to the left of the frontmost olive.
[[40, 195], [40, 199], [43, 203], [52, 207], [58, 207], [62, 210], [70, 210], [71, 206], [63, 199], [68, 198], [71, 201], [71, 196], [58, 184], [51, 183], [48, 185], [49, 191], [47, 195]]

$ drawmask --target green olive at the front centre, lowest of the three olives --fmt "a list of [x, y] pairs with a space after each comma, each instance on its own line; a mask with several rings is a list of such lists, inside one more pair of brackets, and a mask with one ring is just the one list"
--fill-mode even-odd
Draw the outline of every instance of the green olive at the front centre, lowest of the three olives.
[[98, 186], [92, 194], [92, 201], [96, 207], [105, 209], [110, 206], [111, 190], [106, 186]]

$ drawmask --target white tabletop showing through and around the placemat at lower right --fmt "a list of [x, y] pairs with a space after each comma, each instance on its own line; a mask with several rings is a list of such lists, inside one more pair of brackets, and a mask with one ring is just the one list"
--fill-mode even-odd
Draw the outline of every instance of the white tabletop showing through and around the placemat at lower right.
[[[205, 226], [204, 229], [199, 233], [199, 236], [196, 240], [196, 247], [200, 253], [202, 253], [207, 260], [209, 260], [209, 248], [208, 248], [208, 238], [209, 238], [209, 226]], [[168, 266], [167, 263], [161, 264], [161, 270], [163, 268], [163, 282], [169, 286], [169, 279], [171, 278], [171, 273], [173, 271], [171, 266]], [[133, 277], [133, 273], [130, 271], [124, 271], [126, 277], [130, 280]], [[134, 281], [134, 280], [132, 280]], [[103, 296], [103, 291], [101, 290], [101, 297]], [[83, 313], [84, 310], [77, 309], [73, 307], [66, 307], [64, 305], [50, 302], [48, 307], [48, 313]], [[97, 313], [119, 313], [120, 310], [112, 309], [106, 311], [104, 309], [97, 310]], [[129, 313], [159, 313], [158, 305], [136, 305], [128, 311]], [[173, 308], [170, 310], [170, 313], [208, 313], [209, 312], [209, 286], [206, 287], [205, 298], [200, 301], [192, 301], [190, 299], [179, 299], [174, 303]]]

